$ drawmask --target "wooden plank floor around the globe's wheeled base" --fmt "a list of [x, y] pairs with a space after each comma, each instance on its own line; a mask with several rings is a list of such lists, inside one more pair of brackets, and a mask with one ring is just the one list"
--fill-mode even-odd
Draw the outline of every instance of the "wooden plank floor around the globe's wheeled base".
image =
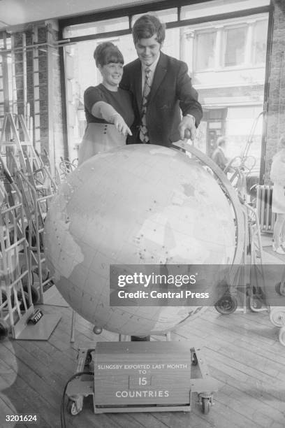
[[[60, 313], [61, 321], [49, 341], [9, 341], [0, 344], [0, 427], [60, 428], [64, 385], [75, 369], [78, 345], [117, 341], [78, 316], [75, 343], [71, 344], [71, 309], [45, 306]], [[203, 346], [210, 375], [219, 380], [219, 392], [208, 415], [193, 406], [191, 413], [109, 413], [94, 415], [85, 399], [79, 415], [66, 414], [66, 427], [75, 428], [284, 428], [285, 348], [268, 313], [219, 315], [209, 308], [189, 326], [173, 334], [173, 341]], [[159, 338], [154, 338], [159, 340]], [[4, 415], [37, 415], [36, 424], [6, 423]]]

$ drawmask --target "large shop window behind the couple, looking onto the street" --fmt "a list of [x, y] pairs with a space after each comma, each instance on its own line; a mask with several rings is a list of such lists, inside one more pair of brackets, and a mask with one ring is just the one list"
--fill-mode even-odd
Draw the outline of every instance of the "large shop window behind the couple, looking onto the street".
[[[252, 13], [252, 9], [269, 4], [270, 0], [205, 1], [182, 6], [180, 21], [178, 8], [149, 12], [166, 24], [172, 23], [166, 27], [162, 51], [188, 66], [204, 111], [195, 145], [208, 155], [214, 150], [217, 138], [224, 134], [230, 141], [229, 157], [236, 156], [244, 149], [251, 125], [263, 111], [268, 11]], [[246, 9], [250, 9], [249, 15], [239, 13]], [[125, 64], [136, 59], [130, 23], [132, 27], [141, 15], [76, 24], [64, 31], [72, 43], [65, 48], [71, 159], [77, 157], [74, 148], [85, 131], [83, 94], [88, 86], [101, 83], [93, 58], [94, 49], [98, 43], [112, 41], [122, 51]], [[80, 37], [80, 41], [73, 41], [73, 37]], [[244, 116], [235, 119], [233, 116], [238, 117], [240, 112], [244, 112]], [[262, 118], [251, 147], [256, 167], [260, 162], [261, 125]]]

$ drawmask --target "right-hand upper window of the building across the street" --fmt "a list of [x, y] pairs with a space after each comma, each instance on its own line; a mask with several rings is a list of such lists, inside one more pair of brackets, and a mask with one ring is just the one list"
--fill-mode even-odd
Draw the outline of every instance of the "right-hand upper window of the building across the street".
[[244, 63], [244, 48], [247, 28], [232, 28], [225, 31], [225, 66], [236, 66]]

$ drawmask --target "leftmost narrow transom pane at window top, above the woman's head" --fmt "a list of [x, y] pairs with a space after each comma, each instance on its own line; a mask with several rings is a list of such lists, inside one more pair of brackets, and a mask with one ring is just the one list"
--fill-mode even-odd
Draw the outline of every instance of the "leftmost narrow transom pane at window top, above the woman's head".
[[64, 37], [88, 36], [89, 34], [107, 33], [129, 28], [129, 17], [112, 20], [87, 22], [86, 24], [70, 25], [64, 29]]

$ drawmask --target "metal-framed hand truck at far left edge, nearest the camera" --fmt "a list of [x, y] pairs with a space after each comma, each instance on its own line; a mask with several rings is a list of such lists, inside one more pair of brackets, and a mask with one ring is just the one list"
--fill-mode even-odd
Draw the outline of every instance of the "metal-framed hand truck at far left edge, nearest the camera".
[[[7, 173], [6, 178], [9, 178]], [[34, 305], [31, 297], [28, 243], [24, 236], [25, 220], [22, 197], [12, 180], [9, 181], [17, 194], [18, 202], [10, 206], [8, 195], [2, 187], [1, 194], [4, 198], [0, 206], [0, 325], [2, 329], [10, 328], [13, 338], [17, 338], [33, 315]], [[20, 259], [22, 259], [21, 262]], [[24, 269], [21, 269], [20, 266], [24, 266]]]

